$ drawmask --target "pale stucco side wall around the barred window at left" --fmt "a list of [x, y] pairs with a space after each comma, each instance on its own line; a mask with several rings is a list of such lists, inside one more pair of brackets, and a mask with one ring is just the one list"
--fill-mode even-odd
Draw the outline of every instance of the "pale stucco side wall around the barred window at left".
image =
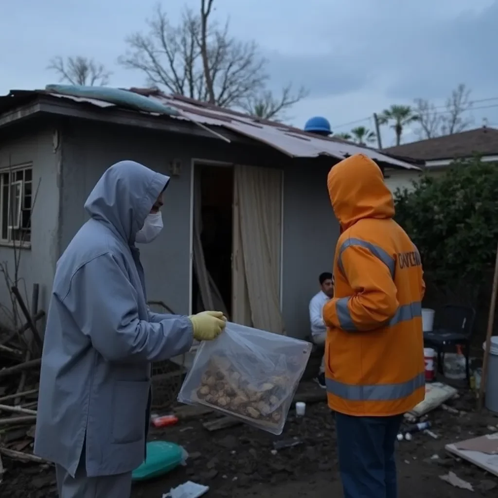
[[[59, 151], [54, 148], [54, 129], [48, 123], [24, 124], [22, 128], [0, 133], [0, 168], [8, 170], [9, 167], [32, 163], [33, 197], [38, 188], [31, 216], [30, 249], [0, 246], [0, 261], [14, 278], [14, 251], [18, 254], [21, 295], [30, 306], [33, 283], [39, 283], [39, 309], [45, 311], [58, 257]], [[0, 303], [12, 309], [3, 275], [0, 275]], [[0, 322], [11, 325], [4, 312], [0, 313]]]

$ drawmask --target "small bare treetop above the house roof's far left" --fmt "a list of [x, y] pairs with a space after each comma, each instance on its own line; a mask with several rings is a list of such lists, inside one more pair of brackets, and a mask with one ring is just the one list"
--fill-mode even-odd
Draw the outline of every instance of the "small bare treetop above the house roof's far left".
[[60, 82], [83, 86], [107, 85], [112, 74], [103, 64], [82, 56], [68, 57], [66, 60], [61, 56], [54, 57], [47, 69], [55, 71]]

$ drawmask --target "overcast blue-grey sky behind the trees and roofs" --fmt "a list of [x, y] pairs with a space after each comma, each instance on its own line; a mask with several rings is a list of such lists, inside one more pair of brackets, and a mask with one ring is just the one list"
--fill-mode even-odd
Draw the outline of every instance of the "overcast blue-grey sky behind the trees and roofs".
[[[116, 63], [126, 35], [145, 29], [156, 0], [19, 0], [0, 16], [0, 95], [43, 88], [57, 77], [54, 55], [94, 57], [113, 86], [143, 86]], [[162, 1], [171, 20], [199, 0]], [[290, 112], [302, 127], [322, 115], [335, 132], [372, 126], [373, 112], [416, 97], [444, 104], [459, 83], [472, 89], [475, 126], [498, 126], [498, 0], [215, 0], [231, 32], [254, 39], [269, 61], [271, 88], [288, 82], [310, 94]], [[491, 100], [496, 98], [495, 100]], [[486, 107], [486, 109], [481, 109]], [[479, 109], [478, 109], [479, 108]], [[364, 121], [360, 121], [364, 120]], [[350, 122], [356, 122], [349, 124]], [[383, 132], [384, 146], [393, 135]], [[408, 130], [404, 141], [416, 139]]]

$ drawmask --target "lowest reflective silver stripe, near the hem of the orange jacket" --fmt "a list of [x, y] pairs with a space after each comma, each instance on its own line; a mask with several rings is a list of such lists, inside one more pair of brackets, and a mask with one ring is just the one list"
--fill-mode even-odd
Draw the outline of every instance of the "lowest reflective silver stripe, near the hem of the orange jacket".
[[412, 394], [425, 385], [425, 373], [399, 384], [352, 385], [325, 379], [327, 391], [349, 401], [394, 401]]

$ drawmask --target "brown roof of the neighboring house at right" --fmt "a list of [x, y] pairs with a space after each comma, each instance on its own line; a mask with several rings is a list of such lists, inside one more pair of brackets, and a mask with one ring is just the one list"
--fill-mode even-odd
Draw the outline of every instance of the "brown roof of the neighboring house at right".
[[471, 129], [452, 135], [404, 143], [383, 149], [382, 152], [426, 161], [459, 159], [472, 157], [474, 154], [498, 155], [498, 129], [488, 127]]

